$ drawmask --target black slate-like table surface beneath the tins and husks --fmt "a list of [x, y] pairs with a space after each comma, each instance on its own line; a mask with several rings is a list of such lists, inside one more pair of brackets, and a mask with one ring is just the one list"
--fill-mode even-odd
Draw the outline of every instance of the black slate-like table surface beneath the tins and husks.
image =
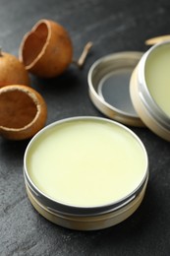
[[[85, 67], [71, 65], [60, 77], [30, 76], [46, 100], [46, 124], [72, 116], [103, 116], [88, 96], [87, 73], [104, 55], [146, 51], [144, 40], [170, 32], [168, 0], [0, 0], [0, 45], [18, 56], [22, 38], [40, 19], [60, 23], [70, 33], [74, 57], [93, 42]], [[97, 231], [52, 224], [31, 206], [23, 158], [27, 141], [0, 138], [0, 255], [170, 255], [170, 144], [147, 128], [131, 129], [149, 159], [144, 200], [128, 220]]]

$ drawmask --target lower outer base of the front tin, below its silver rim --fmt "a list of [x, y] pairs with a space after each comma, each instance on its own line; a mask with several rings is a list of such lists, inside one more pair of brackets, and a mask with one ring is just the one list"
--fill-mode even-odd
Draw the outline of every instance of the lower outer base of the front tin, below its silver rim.
[[30, 189], [28, 188], [28, 185], [26, 185], [26, 187], [30, 203], [34, 209], [48, 221], [70, 229], [97, 230], [119, 224], [129, 218], [142, 203], [146, 183], [147, 180], [145, 181], [141, 193], [133, 201], [123, 206], [122, 208], [106, 214], [85, 217], [65, 215], [63, 213], [59, 214], [50, 211], [34, 198]]

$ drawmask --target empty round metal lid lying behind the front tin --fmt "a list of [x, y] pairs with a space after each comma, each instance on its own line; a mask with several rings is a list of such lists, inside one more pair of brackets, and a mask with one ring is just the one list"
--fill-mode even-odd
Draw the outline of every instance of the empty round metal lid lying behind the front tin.
[[94, 62], [88, 72], [89, 96], [107, 117], [132, 126], [143, 126], [130, 96], [130, 79], [142, 52], [126, 51]]

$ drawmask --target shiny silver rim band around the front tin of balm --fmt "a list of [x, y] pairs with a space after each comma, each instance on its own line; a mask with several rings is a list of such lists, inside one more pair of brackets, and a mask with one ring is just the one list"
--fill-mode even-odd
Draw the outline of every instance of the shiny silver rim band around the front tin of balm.
[[[102, 122], [113, 123], [114, 125], [122, 127], [123, 129], [128, 131], [137, 140], [137, 142], [139, 143], [139, 145], [142, 148], [143, 156], [145, 159], [145, 170], [143, 171], [143, 177], [142, 177], [141, 182], [139, 183], [137, 188], [132, 191], [132, 193], [128, 194], [127, 196], [123, 197], [122, 199], [120, 199], [118, 201], [110, 202], [107, 205], [98, 205], [96, 207], [90, 207], [90, 206], [89, 207], [78, 207], [78, 206], [74, 206], [71, 204], [63, 204], [62, 202], [53, 200], [51, 197], [49, 197], [48, 195], [46, 195], [45, 193], [40, 191], [40, 189], [38, 189], [37, 186], [32, 182], [31, 178], [29, 177], [28, 168], [27, 168], [27, 157], [28, 157], [28, 151], [31, 147], [31, 144], [33, 144], [33, 142], [36, 141], [36, 139], [39, 138], [48, 129], [50, 129], [58, 124], [62, 124], [64, 122], [77, 121], [77, 120], [98, 120], [98, 121], [102, 121]], [[31, 190], [31, 193], [33, 194], [33, 196], [40, 203], [45, 205], [47, 208], [49, 208], [55, 212], [58, 212], [58, 213], [67, 213], [70, 215], [77, 215], [79, 213], [79, 215], [81, 215], [81, 216], [88, 216], [88, 215], [91, 216], [91, 215], [97, 215], [97, 214], [101, 214], [101, 213], [109, 213], [110, 211], [113, 211], [113, 209], [115, 209], [115, 210], [120, 209], [123, 206], [125, 206], [126, 204], [129, 204], [131, 201], [133, 201], [139, 195], [139, 193], [142, 191], [142, 188], [143, 188], [146, 180], [148, 179], [148, 158], [147, 158], [146, 150], [145, 150], [140, 138], [126, 126], [124, 126], [120, 123], [117, 123], [113, 120], [108, 120], [108, 119], [102, 118], [102, 117], [93, 117], [93, 116], [70, 117], [70, 118], [65, 118], [65, 119], [62, 119], [62, 120], [59, 120], [59, 121], [56, 121], [54, 123], [47, 125], [30, 140], [30, 142], [28, 143], [26, 152], [25, 152], [25, 157], [24, 157], [24, 177], [25, 177], [25, 182], [28, 185], [28, 188]]]

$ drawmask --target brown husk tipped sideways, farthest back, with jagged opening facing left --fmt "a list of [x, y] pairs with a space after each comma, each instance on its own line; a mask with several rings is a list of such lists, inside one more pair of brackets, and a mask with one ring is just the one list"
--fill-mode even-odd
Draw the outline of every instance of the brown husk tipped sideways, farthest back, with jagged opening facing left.
[[62, 74], [72, 58], [73, 46], [68, 32], [50, 20], [38, 21], [20, 45], [20, 61], [30, 73], [39, 77], [52, 78]]

